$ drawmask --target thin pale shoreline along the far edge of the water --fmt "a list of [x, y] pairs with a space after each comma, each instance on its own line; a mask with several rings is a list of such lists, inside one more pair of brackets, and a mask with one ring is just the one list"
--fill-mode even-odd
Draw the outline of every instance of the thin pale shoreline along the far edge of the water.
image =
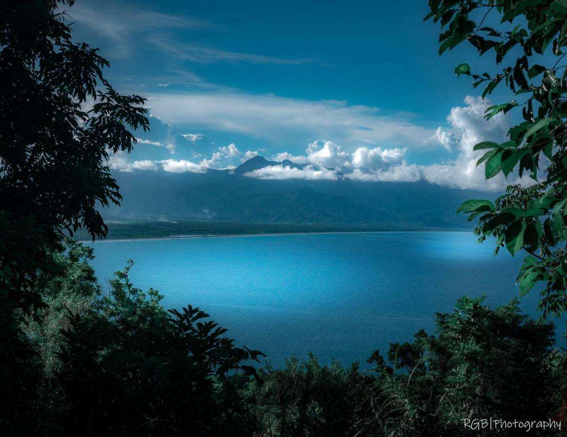
[[79, 243], [112, 243], [113, 241], [151, 241], [151, 240], [193, 240], [205, 238], [234, 238], [234, 237], [273, 237], [284, 235], [333, 235], [333, 234], [421, 234], [421, 233], [456, 233], [468, 234], [470, 231], [330, 231], [330, 232], [277, 232], [269, 234], [208, 234], [208, 235], [168, 235], [163, 237], [134, 237], [134, 238], [109, 238], [99, 240], [77, 240]]

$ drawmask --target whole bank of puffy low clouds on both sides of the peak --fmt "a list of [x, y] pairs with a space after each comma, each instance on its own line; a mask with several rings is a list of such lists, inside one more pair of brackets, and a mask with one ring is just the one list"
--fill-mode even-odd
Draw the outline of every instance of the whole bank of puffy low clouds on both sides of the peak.
[[[491, 104], [489, 100], [467, 96], [464, 103], [463, 107], [451, 109], [447, 117], [450, 128], [439, 127], [429, 137], [422, 138], [421, 143], [428, 142], [431, 144], [435, 142], [437, 147], [442, 146], [454, 154], [454, 158], [443, 163], [428, 166], [408, 163], [409, 147], [407, 146], [386, 148], [375, 146], [374, 141], [359, 139], [357, 147], [347, 150], [333, 141], [316, 140], [308, 144], [304, 154], [294, 155], [283, 151], [272, 156], [272, 159], [277, 162], [290, 160], [297, 165], [282, 163], [276, 166], [267, 166], [244, 173], [244, 176], [261, 180], [427, 181], [450, 188], [492, 191], [501, 190], [511, 183], [530, 184], [530, 181], [522, 181], [517, 177], [506, 180], [503, 175], [498, 175], [488, 181], [485, 180], [484, 166], [476, 166], [476, 162], [483, 155], [483, 151], [475, 152], [473, 147], [481, 141], [505, 141], [507, 131], [511, 126], [510, 117], [498, 114], [486, 121], [484, 113]], [[338, 107], [341, 107], [341, 104]], [[350, 109], [342, 107], [340, 111], [350, 111]], [[267, 114], [267, 117], [269, 118], [270, 115]], [[201, 141], [204, 135], [184, 134], [183, 137], [190, 143], [196, 143]], [[160, 142], [139, 141], [162, 145]], [[360, 145], [361, 142], [362, 145]], [[175, 173], [204, 173], [210, 168], [235, 168], [235, 164], [257, 156], [262, 151], [264, 149], [242, 152], [235, 143], [230, 143], [215, 149], [211, 152], [210, 158], [204, 158], [197, 162], [185, 159], [135, 160], [129, 162], [126, 155], [121, 153], [112, 156], [109, 165], [116, 171], [125, 172], [162, 170]], [[201, 154], [194, 153], [193, 156], [197, 158]]]

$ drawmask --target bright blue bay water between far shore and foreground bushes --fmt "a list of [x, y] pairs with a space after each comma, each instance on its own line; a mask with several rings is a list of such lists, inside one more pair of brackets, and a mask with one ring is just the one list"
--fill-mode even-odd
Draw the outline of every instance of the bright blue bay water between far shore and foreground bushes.
[[[521, 257], [470, 232], [375, 232], [100, 241], [92, 262], [103, 290], [126, 260], [136, 287], [158, 288], [166, 308], [200, 307], [238, 345], [285, 357], [345, 364], [390, 342], [434, 333], [434, 313], [455, 300], [488, 295], [497, 306], [518, 296]], [[538, 294], [522, 308], [538, 316]]]

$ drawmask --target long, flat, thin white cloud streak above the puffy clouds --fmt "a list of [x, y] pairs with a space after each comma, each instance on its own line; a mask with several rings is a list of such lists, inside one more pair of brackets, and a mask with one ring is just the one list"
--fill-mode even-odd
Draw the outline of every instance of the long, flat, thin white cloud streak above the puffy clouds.
[[[148, 94], [152, 112], [170, 124], [265, 138], [271, 142], [332, 138], [342, 147], [356, 147], [365, 126], [365, 143], [388, 147], [424, 146], [435, 133], [412, 123], [407, 113], [387, 114], [376, 107], [344, 101], [300, 100], [237, 92]], [[425, 145], [426, 146], [426, 145]]]

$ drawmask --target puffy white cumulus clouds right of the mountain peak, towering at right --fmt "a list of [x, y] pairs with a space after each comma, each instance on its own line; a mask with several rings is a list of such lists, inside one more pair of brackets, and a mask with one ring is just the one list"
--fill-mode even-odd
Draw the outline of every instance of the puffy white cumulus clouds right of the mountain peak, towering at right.
[[[294, 156], [282, 152], [274, 156], [276, 160], [290, 159], [295, 163], [308, 163], [315, 167], [336, 168], [344, 179], [358, 181], [418, 181], [459, 189], [502, 190], [512, 183], [531, 184], [531, 180], [520, 180], [518, 177], [506, 179], [502, 174], [485, 180], [484, 166], [476, 166], [483, 151], [473, 151], [473, 147], [482, 141], [503, 142], [511, 121], [509, 114], [498, 114], [486, 120], [486, 108], [492, 103], [488, 99], [467, 96], [463, 107], [451, 109], [447, 121], [460, 132], [460, 138], [447, 129], [439, 128], [430, 139], [438, 141], [447, 150], [456, 152], [455, 158], [441, 164], [418, 166], [405, 161], [407, 148], [358, 146], [349, 152], [331, 141], [312, 142], [305, 156]], [[252, 177], [262, 179], [283, 179], [288, 172], [254, 173]], [[291, 176], [290, 176], [291, 177]]]

